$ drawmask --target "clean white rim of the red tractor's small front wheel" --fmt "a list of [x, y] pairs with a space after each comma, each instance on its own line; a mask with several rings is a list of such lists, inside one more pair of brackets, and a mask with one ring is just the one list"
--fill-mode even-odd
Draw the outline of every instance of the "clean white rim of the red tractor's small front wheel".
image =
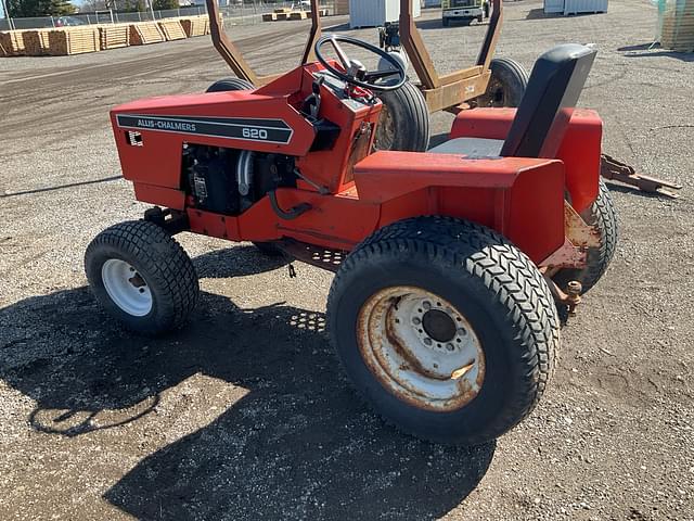
[[101, 280], [116, 306], [133, 317], [152, 310], [152, 292], [146, 281], [130, 264], [110, 258], [101, 267]]

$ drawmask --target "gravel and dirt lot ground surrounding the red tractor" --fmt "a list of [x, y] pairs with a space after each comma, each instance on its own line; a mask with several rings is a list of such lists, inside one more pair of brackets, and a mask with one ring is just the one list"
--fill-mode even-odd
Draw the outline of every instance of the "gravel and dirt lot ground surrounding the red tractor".
[[[0, 519], [694, 519], [693, 56], [647, 50], [646, 1], [540, 8], [509, 2], [499, 54], [530, 67], [555, 43], [597, 43], [581, 103], [604, 117], [605, 151], [684, 189], [615, 187], [621, 242], [563, 330], [553, 385], [475, 449], [402, 436], [360, 404], [327, 343], [320, 270], [290, 279], [252, 246], [181, 237], [204, 291], [190, 328], [144, 340], [97, 308], [85, 247], [143, 209], [108, 109], [228, 75], [207, 38], [1, 60]], [[436, 13], [421, 26], [444, 69], [483, 34]], [[234, 36], [271, 72], [306, 29]], [[450, 116], [433, 122], [442, 134]]]

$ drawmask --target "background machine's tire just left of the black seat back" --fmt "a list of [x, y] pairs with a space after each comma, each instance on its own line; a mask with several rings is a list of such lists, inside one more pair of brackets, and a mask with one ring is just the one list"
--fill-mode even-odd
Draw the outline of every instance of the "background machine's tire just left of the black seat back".
[[518, 106], [528, 87], [528, 73], [523, 65], [509, 58], [494, 58], [487, 91], [477, 98], [476, 106]]

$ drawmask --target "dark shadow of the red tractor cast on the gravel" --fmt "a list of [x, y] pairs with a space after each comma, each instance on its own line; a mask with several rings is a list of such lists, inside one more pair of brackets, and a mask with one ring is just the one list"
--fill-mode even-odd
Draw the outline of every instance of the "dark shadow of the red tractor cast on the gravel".
[[[247, 272], [232, 255], [250, 256], [247, 250], [213, 252], [195, 266], [205, 277]], [[274, 269], [274, 260], [254, 258], [256, 272]], [[322, 314], [283, 304], [243, 309], [222, 295], [201, 296], [189, 327], [156, 340], [119, 329], [87, 288], [0, 309], [0, 378], [36, 402], [35, 430], [76, 447], [98, 441], [104, 450], [129, 446], [139, 454], [146, 424], [184, 421], [157, 406], [200, 374], [245, 391], [231, 405], [222, 401], [211, 422], [141, 459], [104, 494], [124, 512], [138, 519], [435, 519], [487, 472], [494, 443], [442, 447], [375, 418], [342, 376]], [[215, 404], [214, 392], [201, 392], [205, 404]], [[108, 447], [116, 439], [118, 446]], [[78, 454], [67, 458], [79, 461]]]

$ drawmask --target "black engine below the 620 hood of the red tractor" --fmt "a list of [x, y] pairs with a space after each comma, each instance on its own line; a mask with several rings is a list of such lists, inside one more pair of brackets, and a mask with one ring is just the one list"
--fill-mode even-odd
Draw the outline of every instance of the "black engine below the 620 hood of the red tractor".
[[192, 143], [183, 145], [182, 170], [196, 208], [232, 216], [277, 188], [295, 188], [297, 178], [287, 155]]

